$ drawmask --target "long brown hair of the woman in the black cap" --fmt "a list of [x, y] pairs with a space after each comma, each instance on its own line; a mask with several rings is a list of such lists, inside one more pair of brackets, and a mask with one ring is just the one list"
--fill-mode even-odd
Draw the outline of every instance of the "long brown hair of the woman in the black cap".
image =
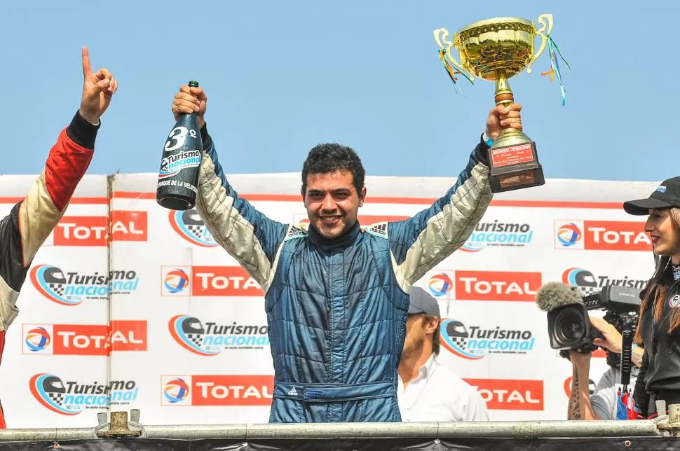
[[[670, 209], [671, 220], [676, 230], [680, 230], [680, 209]], [[647, 282], [644, 289], [644, 298], [640, 305], [640, 317], [637, 324], [637, 331], [635, 331], [634, 341], [638, 345], [642, 345], [641, 324], [642, 317], [645, 312], [651, 308], [654, 309], [654, 322], [661, 319], [663, 312], [663, 303], [668, 294], [669, 286], [673, 283], [673, 265], [671, 265], [670, 256], [662, 256], [656, 266], [654, 275], [649, 282]], [[680, 327], [680, 309], [674, 309], [671, 315], [670, 327], [668, 333], [671, 333], [676, 328]]]

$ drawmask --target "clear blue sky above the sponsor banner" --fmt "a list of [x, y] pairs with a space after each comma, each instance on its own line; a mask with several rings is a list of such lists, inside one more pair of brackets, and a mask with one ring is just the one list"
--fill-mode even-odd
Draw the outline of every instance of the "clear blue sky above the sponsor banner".
[[120, 88], [90, 174], [156, 172], [190, 79], [227, 173], [295, 172], [322, 141], [368, 174], [454, 176], [493, 106], [493, 83], [456, 94], [433, 29], [552, 13], [548, 53], [510, 80], [550, 178], [652, 181], [680, 174], [676, 1], [11, 1], [1, 13], [1, 173], [36, 174], [79, 106], [81, 46]]

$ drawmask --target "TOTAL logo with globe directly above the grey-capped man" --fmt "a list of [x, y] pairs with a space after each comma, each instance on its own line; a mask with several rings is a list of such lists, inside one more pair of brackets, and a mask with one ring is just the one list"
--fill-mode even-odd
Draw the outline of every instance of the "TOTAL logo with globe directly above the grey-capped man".
[[541, 280], [540, 272], [440, 270], [428, 272], [426, 286], [435, 297], [533, 302]]

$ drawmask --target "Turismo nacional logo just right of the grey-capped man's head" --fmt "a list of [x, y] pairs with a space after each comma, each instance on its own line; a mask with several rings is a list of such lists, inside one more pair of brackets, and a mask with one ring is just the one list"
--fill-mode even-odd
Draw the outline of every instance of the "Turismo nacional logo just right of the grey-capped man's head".
[[448, 318], [440, 326], [444, 349], [463, 359], [478, 360], [487, 354], [526, 354], [533, 351], [536, 338], [531, 331], [510, 330], [496, 326], [465, 327], [462, 321]]

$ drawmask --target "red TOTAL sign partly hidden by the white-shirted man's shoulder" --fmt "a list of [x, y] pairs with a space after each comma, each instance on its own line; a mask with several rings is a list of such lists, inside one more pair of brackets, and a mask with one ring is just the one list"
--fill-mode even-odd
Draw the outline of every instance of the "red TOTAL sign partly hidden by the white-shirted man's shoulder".
[[542, 380], [465, 379], [489, 410], [543, 410]]

